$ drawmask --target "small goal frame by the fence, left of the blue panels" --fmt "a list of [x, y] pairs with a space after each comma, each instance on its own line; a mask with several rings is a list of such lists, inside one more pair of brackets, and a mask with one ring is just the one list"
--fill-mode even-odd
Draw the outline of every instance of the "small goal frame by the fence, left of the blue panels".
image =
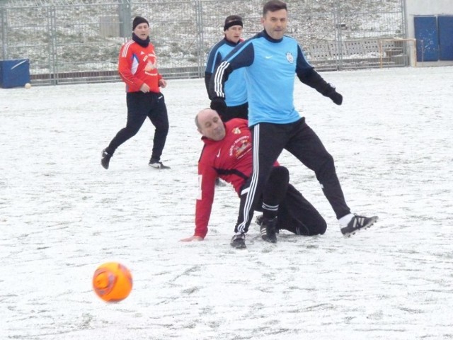
[[417, 66], [417, 40], [410, 39], [380, 39], [379, 40], [379, 60], [380, 67], [384, 66], [384, 60], [405, 60], [407, 58], [408, 65]]

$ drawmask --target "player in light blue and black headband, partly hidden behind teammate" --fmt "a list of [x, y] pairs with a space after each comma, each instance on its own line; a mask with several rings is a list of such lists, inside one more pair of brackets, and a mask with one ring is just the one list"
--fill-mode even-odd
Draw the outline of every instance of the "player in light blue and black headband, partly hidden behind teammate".
[[[224, 57], [231, 52], [239, 43], [243, 42], [242, 35], [242, 18], [240, 16], [227, 16], [224, 24], [224, 38], [217, 42], [210, 50], [207, 57], [205, 69], [206, 90], [209, 90], [209, 84], [215, 69], [222, 62]], [[224, 122], [232, 118], [248, 118], [248, 103], [246, 81], [243, 77], [244, 69], [239, 69], [230, 75], [224, 86], [226, 92], [226, 110], [221, 114]], [[209, 96], [209, 91], [208, 91]], [[211, 99], [211, 97], [210, 97]]]

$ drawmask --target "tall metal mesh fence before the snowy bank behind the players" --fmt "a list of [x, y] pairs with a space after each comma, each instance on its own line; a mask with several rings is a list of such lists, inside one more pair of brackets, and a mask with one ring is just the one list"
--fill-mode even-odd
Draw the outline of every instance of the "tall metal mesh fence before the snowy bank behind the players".
[[[288, 35], [318, 70], [407, 65], [403, 0], [293, 0]], [[117, 81], [117, 58], [144, 16], [166, 78], [202, 77], [224, 18], [262, 30], [262, 0], [0, 0], [0, 58], [29, 59], [34, 84]]]

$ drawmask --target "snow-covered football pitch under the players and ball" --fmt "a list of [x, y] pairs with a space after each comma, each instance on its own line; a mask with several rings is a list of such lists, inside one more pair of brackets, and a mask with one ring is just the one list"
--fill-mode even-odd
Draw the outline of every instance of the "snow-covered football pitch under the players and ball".
[[[0, 89], [0, 339], [453, 339], [453, 67], [323, 72], [343, 106], [303, 84], [296, 107], [334, 159], [353, 212], [341, 236], [314, 175], [287, 153], [291, 181], [328, 222], [229, 245], [239, 199], [219, 188], [203, 242], [193, 234], [193, 118], [202, 79], [163, 90], [170, 132], [147, 166], [153, 128], [101, 150], [125, 125], [122, 83]], [[108, 304], [93, 271], [120, 261], [134, 288]]]

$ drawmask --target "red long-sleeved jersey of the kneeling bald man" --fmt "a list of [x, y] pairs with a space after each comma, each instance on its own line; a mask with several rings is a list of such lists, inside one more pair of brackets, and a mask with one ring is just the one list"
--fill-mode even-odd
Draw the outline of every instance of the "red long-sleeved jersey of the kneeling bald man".
[[198, 161], [199, 194], [195, 212], [195, 236], [205, 238], [210, 220], [214, 188], [217, 177], [231, 183], [236, 193], [252, 173], [251, 132], [247, 120], [234, 118], [225, 124], [225, 137], [221, 141], [205, 142]]

